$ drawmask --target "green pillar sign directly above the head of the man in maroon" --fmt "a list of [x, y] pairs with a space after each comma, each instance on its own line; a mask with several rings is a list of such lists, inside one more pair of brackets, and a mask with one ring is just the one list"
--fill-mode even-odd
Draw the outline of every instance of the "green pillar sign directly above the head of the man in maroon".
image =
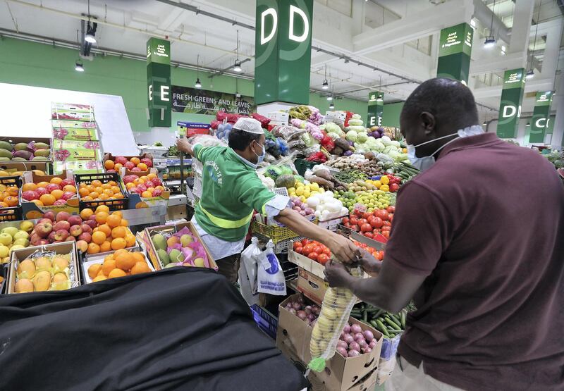
[[460, 23], [441, 30], [437, 77], [460, 80], [465, 85], [468, 83], [473, 37], [474, 30], [468, 23]]

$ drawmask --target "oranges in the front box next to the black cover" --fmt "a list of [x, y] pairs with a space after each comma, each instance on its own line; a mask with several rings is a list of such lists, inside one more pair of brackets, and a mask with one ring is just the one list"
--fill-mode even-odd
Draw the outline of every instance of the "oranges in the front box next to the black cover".
[[149, 273], [151, 269], [142, 252], [128, 252], [119, 249], [104, 258], [104, 263], [94, 263], [88, 268], [88, 275], [93, 283], [108, 278], [123, 277], [140, 273]]

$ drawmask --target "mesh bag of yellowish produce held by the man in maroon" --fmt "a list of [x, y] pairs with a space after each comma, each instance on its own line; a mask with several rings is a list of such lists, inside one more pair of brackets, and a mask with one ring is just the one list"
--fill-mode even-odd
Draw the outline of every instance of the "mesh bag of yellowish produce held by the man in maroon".
[[[361, 277], [362, 269], [350, 268], [349, 273], [354, 277]], [[313, 326], [312, 339], [309, 342], [312, 361], [309, 361], [308, 367], [312, 371], [323, 371], [326, 360], [335, 354], [339, 337], [348, 325], [350, 310], [353, 309], [356, 299], [353, 292], [345, 288], [329, 287], [325, 292], [321, 313]]]

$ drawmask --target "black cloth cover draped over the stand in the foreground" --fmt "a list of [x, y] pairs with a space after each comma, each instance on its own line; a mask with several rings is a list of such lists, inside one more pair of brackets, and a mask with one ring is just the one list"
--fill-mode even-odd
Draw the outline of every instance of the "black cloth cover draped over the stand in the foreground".
[[302, 390], [225, 278], [172, 268], [0, 295], [0, 390]]

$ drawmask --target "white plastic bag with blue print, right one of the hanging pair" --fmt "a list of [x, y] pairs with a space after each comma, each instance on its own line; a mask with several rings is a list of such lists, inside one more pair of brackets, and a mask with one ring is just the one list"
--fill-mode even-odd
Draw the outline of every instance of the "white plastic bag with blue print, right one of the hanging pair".
[[272, 240], [266, 244], [266, 250], [258, 256], [258, 288], [261, 293], [286, 295], [286, 279], [280, 262], [274, 254]]

